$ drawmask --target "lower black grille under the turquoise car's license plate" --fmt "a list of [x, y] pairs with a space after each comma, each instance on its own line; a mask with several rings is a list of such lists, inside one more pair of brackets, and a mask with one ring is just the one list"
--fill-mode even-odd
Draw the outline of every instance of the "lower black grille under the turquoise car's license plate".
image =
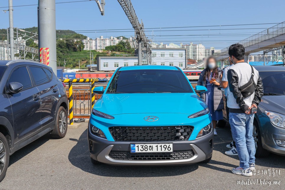
[[193, 150], [174, 150], [172, 153], [130, 153], [111, 150], [109, 153], [109, 157], [115, 160], [182, 160], [193, 156]]

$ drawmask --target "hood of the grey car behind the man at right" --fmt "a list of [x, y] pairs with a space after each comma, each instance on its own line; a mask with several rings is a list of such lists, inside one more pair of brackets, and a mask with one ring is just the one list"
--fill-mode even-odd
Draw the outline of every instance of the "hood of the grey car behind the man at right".
[[269, 111], [285, 114], [285, 95], [263, 96], [260, 104]]

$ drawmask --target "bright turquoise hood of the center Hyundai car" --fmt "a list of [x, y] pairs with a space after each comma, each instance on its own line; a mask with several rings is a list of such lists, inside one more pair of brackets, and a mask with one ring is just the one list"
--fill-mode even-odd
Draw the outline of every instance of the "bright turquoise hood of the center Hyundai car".
[[195, 93], [103, 94], [94, 109], [109, 114], [193, 114], [206, 107]]

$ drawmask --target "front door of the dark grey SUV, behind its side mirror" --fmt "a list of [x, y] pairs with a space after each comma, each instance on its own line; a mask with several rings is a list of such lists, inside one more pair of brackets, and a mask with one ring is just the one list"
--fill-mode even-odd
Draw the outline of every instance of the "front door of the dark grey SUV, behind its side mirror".
[[12, 105], [15, 143], [17, 143], [24, 141], [42, 127], [40, 92], [33, 85], [26, 66], [18, 66], [12, 70], [6, 89], [9, 89], [10, 82], [23, 85], [23, 89], [18, 93], [8, 94]]

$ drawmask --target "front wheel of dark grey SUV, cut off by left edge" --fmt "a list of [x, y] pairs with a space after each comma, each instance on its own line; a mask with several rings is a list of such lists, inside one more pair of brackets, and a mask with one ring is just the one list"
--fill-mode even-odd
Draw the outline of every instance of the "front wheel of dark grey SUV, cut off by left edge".
[[6, 176], [9, 165], [9, 148], [6, 137], [0, 133], [0, 182]]

